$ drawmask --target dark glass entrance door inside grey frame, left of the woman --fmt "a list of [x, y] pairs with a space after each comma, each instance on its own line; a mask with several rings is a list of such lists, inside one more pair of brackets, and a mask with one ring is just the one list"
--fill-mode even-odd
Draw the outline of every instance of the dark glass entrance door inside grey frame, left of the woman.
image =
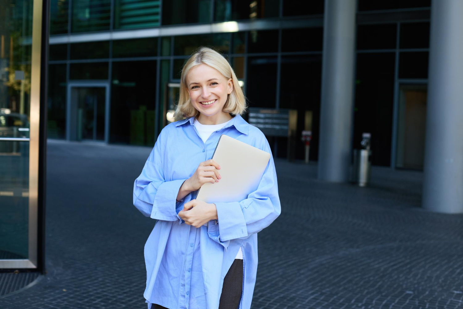
[[68, 139], [108, 142], [109, 85], [69, 83]]

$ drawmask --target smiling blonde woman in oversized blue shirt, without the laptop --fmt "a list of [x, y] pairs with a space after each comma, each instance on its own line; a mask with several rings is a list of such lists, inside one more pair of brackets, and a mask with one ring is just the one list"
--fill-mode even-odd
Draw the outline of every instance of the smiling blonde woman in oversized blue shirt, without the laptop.
[[181, 72], [177, 121], [163, 128], [133, 187], [134, 206], [157, 220], [144, 246], [148, 309], [250, 308], [257, 232], [281, 212], [273, 158], [243, 201], [194, 199], [204, 183], [221, 179], [211, 159], [221, 134], [271, 154], [263, 133], [241, 117], [245, 109], [227, 60], [197, 50]]

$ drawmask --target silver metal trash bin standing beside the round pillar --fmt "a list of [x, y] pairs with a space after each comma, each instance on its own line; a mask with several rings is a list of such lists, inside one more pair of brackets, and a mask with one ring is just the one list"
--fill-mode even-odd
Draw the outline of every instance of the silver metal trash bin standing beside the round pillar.
[[362, 134], [362, 149], [354, 149], [354, 169], [353, 182], [360, 187], [365, 187], [370, 182], [371, 172], [371, 150], [370, 150], [370, 133]]

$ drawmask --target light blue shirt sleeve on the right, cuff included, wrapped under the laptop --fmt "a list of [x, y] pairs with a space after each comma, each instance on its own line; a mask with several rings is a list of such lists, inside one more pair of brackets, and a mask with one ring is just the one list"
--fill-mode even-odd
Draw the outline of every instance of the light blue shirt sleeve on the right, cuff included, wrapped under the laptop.
[[[228, 246], [228, 240], [246, 237], [261, 231], [281, 213], [275, 163], [266, 139], [263, 146], [259, 148], [269, 152], [270, 159], [257, 189], [241, 202], [214, 202], [217, 208], [219, 235], [217, 237], [217, 232], [211, 231], [216, 228], [213, 224], [208, 225], [209, 232], [211, 232], [209, 235], [225, 249]], [[213, 237], [213, 235], [216, 236]]]

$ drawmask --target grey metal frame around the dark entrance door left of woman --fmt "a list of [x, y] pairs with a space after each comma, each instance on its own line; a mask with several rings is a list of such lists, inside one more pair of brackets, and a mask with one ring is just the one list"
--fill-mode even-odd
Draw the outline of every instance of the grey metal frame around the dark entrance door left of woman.
[[[109, 82], [108, 81], [69, 81], [66, 91], [66, 140], [71, 140], [71, 118], [76, 117], [71, 113], [72, 110], [72, 88], [105, 88], [105, 139], [104, 142], [109, 143]], [[98, 142], [98, 141], [95, 141]]]

